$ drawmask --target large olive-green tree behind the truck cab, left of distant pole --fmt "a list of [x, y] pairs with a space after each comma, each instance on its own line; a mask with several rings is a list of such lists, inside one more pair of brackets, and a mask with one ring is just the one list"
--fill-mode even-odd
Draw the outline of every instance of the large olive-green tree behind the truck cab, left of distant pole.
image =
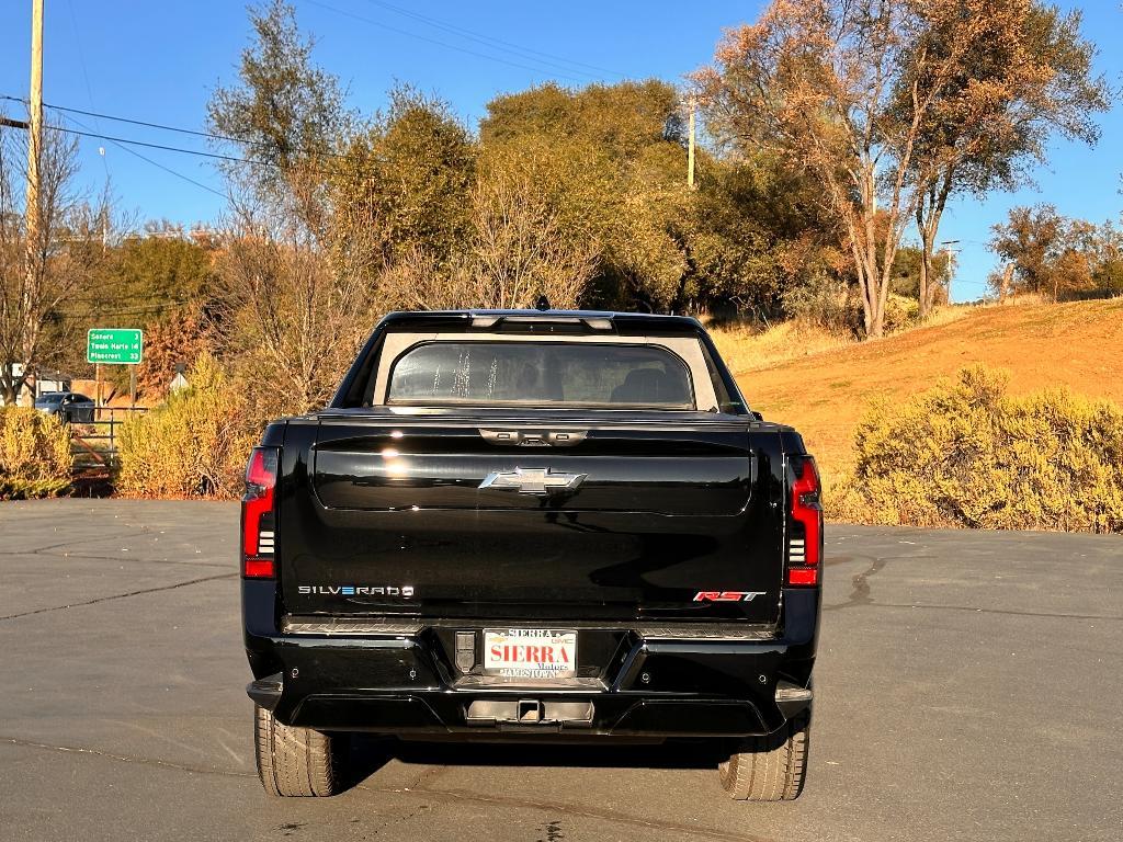
[[674, 309], [690, 269], [677, 92], [658, 81], [499, 97], [483, 148], [535, 173], [574, 244], [595, 242], [588, 303]]

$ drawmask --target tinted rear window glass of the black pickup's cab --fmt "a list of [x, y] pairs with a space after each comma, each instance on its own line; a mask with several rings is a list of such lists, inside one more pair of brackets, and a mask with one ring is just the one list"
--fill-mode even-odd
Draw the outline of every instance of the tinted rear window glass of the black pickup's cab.
[[666, 348], [586, 342], [428, 342], [394, 363], [390, 404], [694, 409], [686, 365]]

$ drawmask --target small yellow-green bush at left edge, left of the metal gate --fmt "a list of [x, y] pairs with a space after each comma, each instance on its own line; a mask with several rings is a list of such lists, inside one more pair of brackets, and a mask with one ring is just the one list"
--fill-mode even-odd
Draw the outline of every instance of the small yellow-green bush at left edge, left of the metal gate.
[[52, 497], [70, 482], [70, 431], [37, 410], [0, 406], [0, 500]]

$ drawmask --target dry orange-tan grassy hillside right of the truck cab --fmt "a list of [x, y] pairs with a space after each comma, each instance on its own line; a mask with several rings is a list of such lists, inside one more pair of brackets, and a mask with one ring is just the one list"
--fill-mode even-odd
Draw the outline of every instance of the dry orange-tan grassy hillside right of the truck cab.
[[791, 326], [716, 338], [752, 408], [795, 425], [828, 475], [850, 460], [869, 399], [903, 399], [977, 363], [1007, 369], [1013, 394], [1063, 385], [1123, 404], [1123, 299], [950, 308], [932, 324], [873, 342], [805, 337]]

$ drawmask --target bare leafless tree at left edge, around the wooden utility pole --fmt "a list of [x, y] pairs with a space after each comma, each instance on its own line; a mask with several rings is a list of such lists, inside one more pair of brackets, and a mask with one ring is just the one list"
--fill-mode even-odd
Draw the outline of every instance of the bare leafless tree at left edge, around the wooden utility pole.
[[[11, 132], [0, 139], [0, 402], [13, 403], [27, 379], [75, 341], [67, 303], [104, 260], [108, 194], [75, 189], [77, 143], [44, 134], [39, 153], [39, 228], [27, 242], [24, 225], [26, 146]], [[20, 373], [16, 374], [19, 369]]]

